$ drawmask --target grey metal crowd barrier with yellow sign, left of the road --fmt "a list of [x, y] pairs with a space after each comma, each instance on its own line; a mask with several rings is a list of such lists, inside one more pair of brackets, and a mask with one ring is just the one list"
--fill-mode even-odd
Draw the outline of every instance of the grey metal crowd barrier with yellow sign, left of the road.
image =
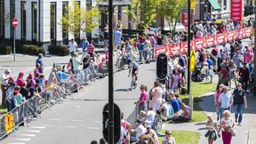
[[98, 66], [92, 65], [78, 74], [68, 76], [67, 79], [59, 81], [58, 84], [47, 87], [39, 96], [21, 103], [20, 106], [0, 117], [0, 141], [12, 132], [16, 132], [20, 124], [26, 124], [34, 116], [39, 116], [42, 110], [50, 108], [52, 105], [61, 103], [71, 92], [78, 92], [82, 84], [87, 84], [95, 78], [106, 75], [107, 71]]

